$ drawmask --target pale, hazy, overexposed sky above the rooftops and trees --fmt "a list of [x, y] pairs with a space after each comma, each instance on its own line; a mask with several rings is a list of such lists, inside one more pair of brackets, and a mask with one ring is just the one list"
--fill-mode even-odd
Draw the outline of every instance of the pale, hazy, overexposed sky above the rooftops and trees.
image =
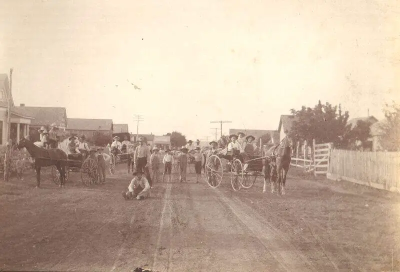
[[399, 9], [397, 0], [0, 0], [0, 72], [14, 68], [15, 104], [62, 106], [132, 132], [142, 114], [139, 133], [193, 140], [219, 131], [211, 120], [232, 121], [224, 133], [277, 129], [280, 114], [318, 99], [380, 119], [398, 101]]

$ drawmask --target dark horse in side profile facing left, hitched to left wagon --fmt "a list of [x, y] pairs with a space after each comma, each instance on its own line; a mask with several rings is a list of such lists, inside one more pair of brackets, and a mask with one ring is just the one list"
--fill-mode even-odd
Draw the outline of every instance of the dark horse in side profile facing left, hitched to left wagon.
[[55, 165], [60, 173], [61, 182], [59, 186], [64, 184], [65, 180], [65, 166], [67, 165], [68, 155], [58, 148], [45, 149], [36, 146], [30, 140], [22, 138], [17, 143], [16, 147], [21, 149], [23, 147], [29, 152], [29, 154], [34, 158], [34, 165], [36, 169], [36, 187], [40, 186], [40, 169], [41, 167]]

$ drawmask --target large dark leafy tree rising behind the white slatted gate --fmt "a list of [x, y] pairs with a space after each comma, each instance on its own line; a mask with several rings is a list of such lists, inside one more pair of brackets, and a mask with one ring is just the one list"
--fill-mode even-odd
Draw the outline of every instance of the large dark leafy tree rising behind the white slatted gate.
[[318, 100], [313, 108], [302, 106], [300, 110], [290, 109], [296, 116], [289, 136], [296, 141], [334, 142], [341, 144], [346, 131], [348, 111], [342, 114], [339, 106], [332, 106]]

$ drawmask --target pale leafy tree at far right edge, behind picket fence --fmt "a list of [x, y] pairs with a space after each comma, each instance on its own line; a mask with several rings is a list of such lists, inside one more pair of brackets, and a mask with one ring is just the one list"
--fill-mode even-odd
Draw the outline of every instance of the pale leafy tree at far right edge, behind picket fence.
[[393, 102], [383, 109], [385, 120], [381, 122], [381, 145], [388, 151], [400, 150], [400, 106]]

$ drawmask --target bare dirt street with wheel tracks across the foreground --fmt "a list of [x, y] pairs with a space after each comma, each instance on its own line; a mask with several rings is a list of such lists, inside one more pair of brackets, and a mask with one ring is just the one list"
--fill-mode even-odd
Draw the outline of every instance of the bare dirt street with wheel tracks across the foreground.
[[40, 189], [33, 172], [0, 182], [0, 270], [391, 271], [400, 270], [400, 196], [289, 170], [285, 196], [261, 179], [234, 192], [228, 174], [156, 183], [125, 201], [125, 165], [103, 185]]

